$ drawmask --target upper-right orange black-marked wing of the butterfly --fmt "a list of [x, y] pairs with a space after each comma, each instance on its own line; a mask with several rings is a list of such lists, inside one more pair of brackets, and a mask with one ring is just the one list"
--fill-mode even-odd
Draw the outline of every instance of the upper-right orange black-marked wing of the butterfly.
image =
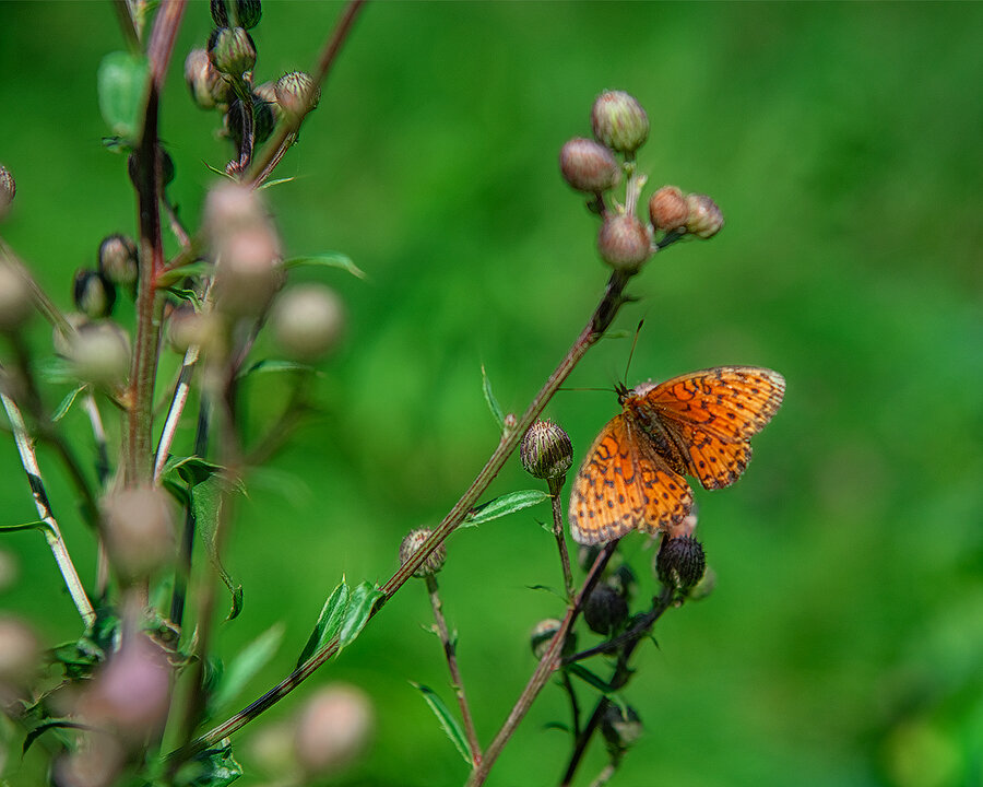
[[734, 483], [750, 461], [750, 437], [778, 411], [785, 378], [756, 366], [719, 366], [674, 377], [638, 407], [672, 435], [704, 489]]

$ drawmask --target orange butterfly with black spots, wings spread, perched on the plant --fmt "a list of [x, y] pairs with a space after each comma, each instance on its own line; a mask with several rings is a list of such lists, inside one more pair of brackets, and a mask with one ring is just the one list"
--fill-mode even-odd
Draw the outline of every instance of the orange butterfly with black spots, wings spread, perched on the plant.
[[617, 389], [623, 411], [601, 430], [570, 494], [570, 532], [582, 544], [632, 530], [655, 533], [692, 509], [692, 490], [734, 483], [750, 437], [782, 403], [785, 378], [756, 366], [718, 366]]

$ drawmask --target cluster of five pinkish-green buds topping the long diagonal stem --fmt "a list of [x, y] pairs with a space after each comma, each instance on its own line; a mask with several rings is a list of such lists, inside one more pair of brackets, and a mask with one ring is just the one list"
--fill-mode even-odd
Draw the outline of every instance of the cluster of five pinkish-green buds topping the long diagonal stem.
[[[675, 186], [649, 201], [650, 223], [636, 215], [644, 177], [636, 174], [635, 156], [649, 137], [649, 117], [638, 101], [623, 91], [602, 93], [591, 110], [594, 139], [576, 138], [560, 151], [560, 173], [578, 191], [592, 196], [588, 205], [600, 213], [597, 250], [604, 262], [627, 275], [638, 273], [659, 249], [656, 236], [709, 238], [723, 226], [723, 214], [706, 195], [684, 195]], [[624, 205], [608, 204], [607, 192], [628, 176]]]

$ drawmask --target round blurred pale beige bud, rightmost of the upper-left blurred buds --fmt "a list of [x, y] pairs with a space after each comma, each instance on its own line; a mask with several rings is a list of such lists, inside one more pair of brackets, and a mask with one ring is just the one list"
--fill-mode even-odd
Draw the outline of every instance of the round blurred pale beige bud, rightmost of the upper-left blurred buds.
[[337, 344], [345, 315], [341, 298], [321, 284], [287, 290], [273, 306], [273, 336], [288, 357], [316, 361]]

